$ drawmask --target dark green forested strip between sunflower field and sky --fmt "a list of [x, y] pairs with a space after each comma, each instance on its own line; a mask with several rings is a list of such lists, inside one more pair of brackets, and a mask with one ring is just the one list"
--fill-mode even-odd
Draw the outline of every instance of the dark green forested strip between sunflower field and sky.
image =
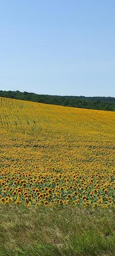
[[0, 97], [29, 100], [40, 103], [72, 106], [74, 108], [115, 111], [113, 97], [40, 95], [19, 91], [0, 91]]

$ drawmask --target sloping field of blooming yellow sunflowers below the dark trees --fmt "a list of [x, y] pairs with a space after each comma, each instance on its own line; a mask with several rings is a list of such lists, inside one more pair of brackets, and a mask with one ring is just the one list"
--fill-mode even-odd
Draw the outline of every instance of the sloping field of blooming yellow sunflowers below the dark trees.
[[1, 202], [115, 203], [115, 113], [0, 98]]

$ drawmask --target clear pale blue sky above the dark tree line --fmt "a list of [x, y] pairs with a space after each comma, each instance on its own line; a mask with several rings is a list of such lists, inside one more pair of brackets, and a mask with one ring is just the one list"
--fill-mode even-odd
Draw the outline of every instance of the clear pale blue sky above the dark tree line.
[[114, 0], [0, 0], [0, 90], [115, 97], [114, 13]]

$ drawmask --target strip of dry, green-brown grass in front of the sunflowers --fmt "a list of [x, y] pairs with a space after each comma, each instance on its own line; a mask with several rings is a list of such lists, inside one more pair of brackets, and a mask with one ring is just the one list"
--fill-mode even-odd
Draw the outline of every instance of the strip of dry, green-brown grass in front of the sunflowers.
[[115, 209], [0, 206], [0, 254], [115, 255]]

